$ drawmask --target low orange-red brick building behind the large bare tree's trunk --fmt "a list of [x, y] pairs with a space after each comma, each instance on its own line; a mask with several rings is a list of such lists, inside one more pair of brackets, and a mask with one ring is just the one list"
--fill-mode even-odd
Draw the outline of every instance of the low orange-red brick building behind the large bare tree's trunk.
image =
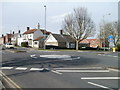
[[93, 48], [96, 48], [97, 46], [102, 47], [102, 44], [100, 44], [99, 39], [84, 39], [79, 43], [79, 47], [93, 47]]

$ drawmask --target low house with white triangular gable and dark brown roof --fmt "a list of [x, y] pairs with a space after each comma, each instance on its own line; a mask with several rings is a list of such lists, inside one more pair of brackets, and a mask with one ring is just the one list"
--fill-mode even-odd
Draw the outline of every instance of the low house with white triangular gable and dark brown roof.
[[75, 40], [70, 35], [63, 34], [50, 34], [46, 40], [46, 46], [57, 46], [59, 48], [75, 48]]

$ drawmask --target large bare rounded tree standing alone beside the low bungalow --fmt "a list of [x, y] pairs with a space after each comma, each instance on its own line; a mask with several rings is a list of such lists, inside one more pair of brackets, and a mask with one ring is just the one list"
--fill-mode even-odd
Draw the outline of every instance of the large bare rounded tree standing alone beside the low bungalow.
[[63, 30], [76, 40], [76, 50], [80, 41], [95, 32], [94, 23], [86, 8], [76, 8], [73, 13], [68, 14], [63, 21]]

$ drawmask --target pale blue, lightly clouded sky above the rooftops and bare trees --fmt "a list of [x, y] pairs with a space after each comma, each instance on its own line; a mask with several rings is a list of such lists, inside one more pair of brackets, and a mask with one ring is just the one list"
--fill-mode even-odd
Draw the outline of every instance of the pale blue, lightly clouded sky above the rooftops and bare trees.
[[[103, 20], [112, 22], [118, 20], [118, 2], [79, 2], [79, 1], [26, 1], [26, 2], [0, 2], [0, 35], [10, 33], [10, 31], [23, 33], [27, 27], [45, 28], [45, 8], [46, 5], [46, 29], [53, 33], [59, 33], [62, 29], [62, 21], [64, 17], [73, 12], [73, 9], [85, 7], [99, 31], [99, 24]], [[107, 15], [111, 13], [111, 15]]]

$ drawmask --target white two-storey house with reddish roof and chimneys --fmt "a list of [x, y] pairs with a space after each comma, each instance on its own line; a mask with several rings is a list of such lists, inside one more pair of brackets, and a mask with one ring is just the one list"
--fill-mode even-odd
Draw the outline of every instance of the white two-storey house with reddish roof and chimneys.
[[[28, 46], [30, 47], [39, 47], [36, 45], [36, 40], [39, 41], [39, 37], [47, 37], [51, 32], [48, 32], [46, 30], [40, 29], [39, 24], [38, 24], [38, 29], [30, 29], [27, 27], [27, 31], [23, 33], [23, 42], [28, 42]], [[34, 45], [35, 43], [35, 45]]]

